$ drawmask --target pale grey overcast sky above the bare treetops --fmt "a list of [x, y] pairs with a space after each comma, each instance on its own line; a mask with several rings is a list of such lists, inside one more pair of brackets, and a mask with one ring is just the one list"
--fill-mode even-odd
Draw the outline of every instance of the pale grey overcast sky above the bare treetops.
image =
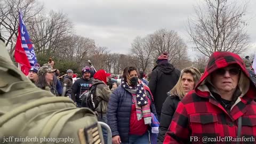
[[[47, 11], [62, 11], [74, 23], [77, 35], [95, 40], [116, 53], [128, 53], [133, 39], [160, 28], [175, 30], [188, 42], [187, 19], [203, 0], [39, 0]], [[243, 0], [244, 1], [244, 0]], [[256, 1], [249, 0], [247, 33], [256, 47]], [[188, 43], [191, 47], [191, 44]], [[190, 52], [194, 55], [194, 52]]]

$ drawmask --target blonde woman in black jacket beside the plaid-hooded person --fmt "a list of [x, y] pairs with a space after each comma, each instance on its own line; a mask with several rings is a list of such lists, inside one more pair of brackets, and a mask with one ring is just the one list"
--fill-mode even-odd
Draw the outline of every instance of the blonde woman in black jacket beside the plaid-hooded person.
[[201, 73], [194, 67], [187, 67], [181, 70], [177, 84], [170, 92], [167, 93], [169, 97], [167, 97], [163, 103], [157, 143], [163, 143], [164, 135], [171, 124], [172, 116], [178, 106], [178, 103], [188, 92], [195, 88], [200, 77]]

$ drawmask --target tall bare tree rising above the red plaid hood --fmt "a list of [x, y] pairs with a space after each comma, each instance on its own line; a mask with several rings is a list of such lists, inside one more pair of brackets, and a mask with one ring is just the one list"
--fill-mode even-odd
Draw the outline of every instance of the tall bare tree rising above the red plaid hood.
[[242, 19], [246, 4], [238, 4], [236, 0], [205, 0], [205, 3], [204, 7], [195, 7], [196, 18], [188, 20], [188, 33], [195, 49], [207, 57], [215, 51], [244, 52], [249, 46], [247, 24]]

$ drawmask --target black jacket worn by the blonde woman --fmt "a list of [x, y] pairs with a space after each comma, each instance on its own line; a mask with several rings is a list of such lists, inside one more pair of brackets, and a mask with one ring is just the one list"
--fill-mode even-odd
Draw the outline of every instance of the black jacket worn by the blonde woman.
[[[168, 95], [170, 95], [170, 93], [168, 93]], [[157, 143], [163, 143], [164, 135], [167, 132], [172, 122], [172, 116], [179, 102], [180, 102], [180, 99], [177, 95], [169, 96], [164, 101], [162, 113], [161, 113], [161, 121], [159, 125], [159, 134], [157, 137]]]

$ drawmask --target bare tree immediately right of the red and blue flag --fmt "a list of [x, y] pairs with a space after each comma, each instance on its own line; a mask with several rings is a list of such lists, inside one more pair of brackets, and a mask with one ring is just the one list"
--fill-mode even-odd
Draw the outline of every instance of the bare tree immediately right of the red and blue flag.
[[[51, 11], [49, 15], [38, 14], [31, 20], [30, 35], [35, 45], [36, 53], [51, 54], [60, 52], [59, 49], [66, 47], [69, 39], [77, 41], [79, 37], [71, 36], [73, 24], [69, 21], [66, 14]], [[75, 42], [71, 41], [71, 45]], [[68, 47], [70, 49], [70, 47]]]

